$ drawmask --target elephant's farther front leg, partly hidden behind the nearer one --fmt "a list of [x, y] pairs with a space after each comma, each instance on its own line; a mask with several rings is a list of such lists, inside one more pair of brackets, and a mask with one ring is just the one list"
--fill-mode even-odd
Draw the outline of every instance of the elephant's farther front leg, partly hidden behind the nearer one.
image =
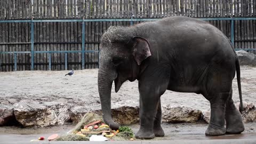
[[161, 126], [161, 119], [162, 119], [162, 108], [161, 108], [161, 99], [159, 98], [159, 101], [157, 103], [157, 112], [156, 117], [154, 121], [154, 133], [155, 137], [164, 137], [164, 130]]

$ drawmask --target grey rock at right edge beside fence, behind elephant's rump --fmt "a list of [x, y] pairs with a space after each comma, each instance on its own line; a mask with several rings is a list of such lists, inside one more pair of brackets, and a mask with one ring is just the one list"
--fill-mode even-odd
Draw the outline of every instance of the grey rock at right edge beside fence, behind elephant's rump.
[[256, 66], [256, 55], [244, 50], [236, 51], [240, 65]]

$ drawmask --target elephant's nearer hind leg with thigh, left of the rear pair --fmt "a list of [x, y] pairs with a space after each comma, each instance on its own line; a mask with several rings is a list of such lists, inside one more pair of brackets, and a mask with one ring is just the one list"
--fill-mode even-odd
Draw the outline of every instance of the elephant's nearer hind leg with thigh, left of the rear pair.
[[215, 71], [210, 79], [207, 79], [204, 97], [211, 103], [210, 123], [205, 135], [223, 135], [225, 128], [226, 102], [230, 95], [232, 80], [225, 71]]

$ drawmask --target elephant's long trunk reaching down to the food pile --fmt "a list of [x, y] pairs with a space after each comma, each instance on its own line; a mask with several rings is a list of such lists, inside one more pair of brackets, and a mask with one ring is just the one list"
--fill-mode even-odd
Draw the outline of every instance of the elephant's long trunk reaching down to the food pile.
[[101, 110], [103, 121], [113, 130], [118, 130], [119, 124], [111, 118], [111, 87], [114, 79], [117, 77], [115, 70], [99, 68], [98, 73], [98, 90], [100, 94]]

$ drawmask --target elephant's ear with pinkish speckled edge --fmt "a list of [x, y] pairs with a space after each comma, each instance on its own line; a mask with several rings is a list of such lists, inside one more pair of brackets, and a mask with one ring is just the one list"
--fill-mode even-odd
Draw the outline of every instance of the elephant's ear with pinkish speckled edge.
[[133, 37], [132, 55], [138, 65], [140, 65], [143, 60], [151, 56], [149, 43], [145, 38]]

